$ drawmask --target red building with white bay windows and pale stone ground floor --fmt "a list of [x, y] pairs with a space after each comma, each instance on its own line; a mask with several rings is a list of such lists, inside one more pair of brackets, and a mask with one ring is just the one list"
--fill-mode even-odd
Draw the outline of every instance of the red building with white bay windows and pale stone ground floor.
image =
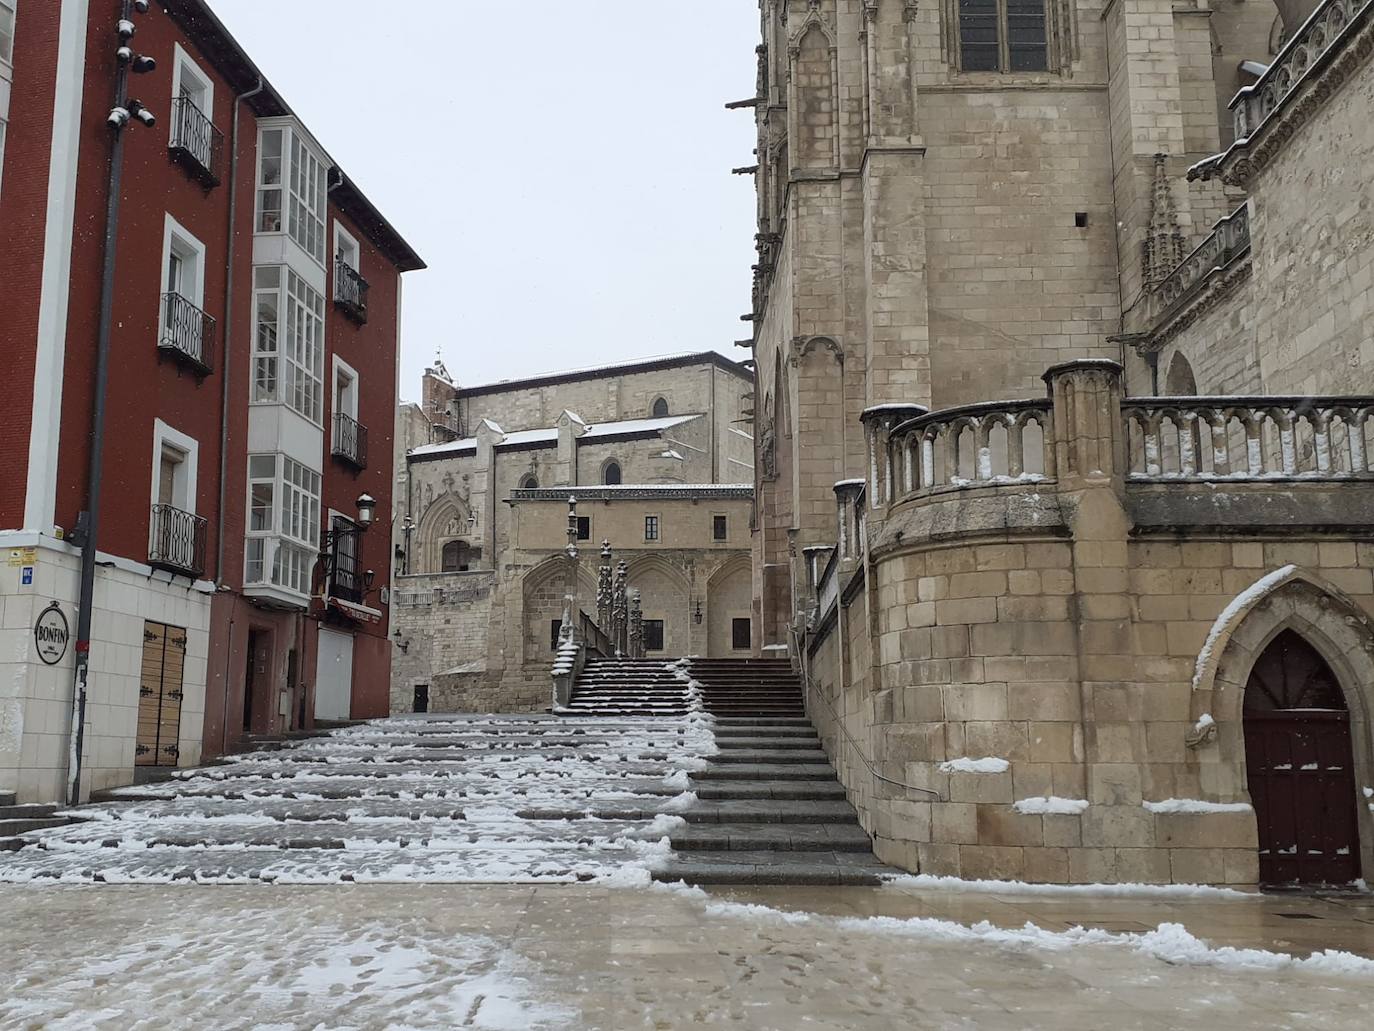
[[0, 795], [22, 801], [70, 797], [78, 745], [85, 799], [387, 708], [423, 264], [207, 4], [139, 7], [0, 1]]

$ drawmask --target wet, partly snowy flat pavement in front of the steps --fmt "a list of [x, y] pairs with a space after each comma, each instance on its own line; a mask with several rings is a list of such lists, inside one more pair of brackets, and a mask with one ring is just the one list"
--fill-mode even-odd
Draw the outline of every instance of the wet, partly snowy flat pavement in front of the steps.
[[[1362, 961], [1129, 936], [1178, 921], [1213, 944], [1374, 954], [1358, 898], [0, 885], [0, 913], [7, 1030], [1374, 1026]], [[1073, 924], [1125, 933], [1054, 933]]]

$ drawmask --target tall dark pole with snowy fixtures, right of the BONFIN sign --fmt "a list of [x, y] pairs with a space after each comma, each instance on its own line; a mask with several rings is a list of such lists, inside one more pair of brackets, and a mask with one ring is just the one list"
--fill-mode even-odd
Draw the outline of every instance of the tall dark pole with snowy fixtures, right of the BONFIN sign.
[[[124, 0], [120, 18], [129, 21], [131, 0]], [[132, 128], [129, 103], [129, 62], [118, 62], [114, 78], [114, 111], [124, 111], [124, 122], [111, 122], [114, 142], [110, 147], [109, 197], [104, 209], [104, 264], [100, 269], [100, 323], [96, 331], [95, 384], [91, 406], [91, 462], [87, 478], [87, 509], [78, 522], [81, 531], [81, 594], [77, 601], [76, 669], [71, 690], [71, 737], [67, 745], [67, 803], [81, 803], [81, 759], [85, 746], [87, 682], [91, 674], [91, 609], [95, 608], [95, 558], [100, 526], [100, 487], [104, 474], [104, 395], [110, 379], [110, 327], [114, 313], [114, 257], [120, 232], [120, 191], [124, 188], [124, 133]], [[111, 114], [111, 118], [114, 114]]]

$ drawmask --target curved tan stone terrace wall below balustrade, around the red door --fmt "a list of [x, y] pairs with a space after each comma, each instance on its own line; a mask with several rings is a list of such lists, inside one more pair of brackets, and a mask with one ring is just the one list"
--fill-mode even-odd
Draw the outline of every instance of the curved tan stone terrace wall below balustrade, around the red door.
[[[888, 862], [1253, 885], [1239, 698], [1285, 627], [1341, 679], [1370, 782], [1369, 485], [1128, 474], [1113, 368], [1054, 371], [1047, 478], [899, 489], [872, 516], [871, 581], [841, 564], [848, 603], [808, 642], [809, 712]], [[1169, 799], [1213, 810], [1147, 806]], [[1359, 808], [1367, 874], [1374, 814]]]

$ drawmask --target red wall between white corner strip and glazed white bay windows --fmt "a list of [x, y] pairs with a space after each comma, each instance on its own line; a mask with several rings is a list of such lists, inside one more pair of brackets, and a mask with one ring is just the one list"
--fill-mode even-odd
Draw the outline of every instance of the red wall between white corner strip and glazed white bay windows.
[[[100, 7], [95, 4], [93, 8]], [[157, 71], [131, 78], [131, 93], [158, 115], [158, 124], [125, 131], [125, 161], [120, 234], [115, 253], [114, 326], [110, 338], [110, 378], [106, 393], [104, 489], [102, 496], [102, 550], [147, 559], [153, 478], [153, 423], [161, 418], [199, 441], [196, 514], [209, 520], [206, 575], [214, 575], [218, 520], [220, 418], [224, 375], [224, 315], [228, 268], [228, 181], [206, 190], [177, 165], [168, 151], [172, 117], [173, 43], [214, 80], [213, 121], [228, 137], [234, 91], [177, 26], [161, 12], [140, 16], [137, 49], [158, 60]], [[87, 98], [82, 113], [82, 147], [87, 155], [109, 151], [109, 84], [114, 81], [114, 48], [109, 23], [92, 10], [88, 40]], [[240, 179], [239, 247], [235, 254], [235, 291], [251, 274], [251, 159], [256, 137], [251, 115], [240, 125], [249, 131], [240, 144], [249, 179]], [[223, 172], [228, 179], [228, 139]], [[77, 179], [77, 220], [71, 269], [71, 308], [67, 324], [67, 359], [62, 392], [62, 444], [58, 466], [56, 521], [74, 526], [85, 505], [89, 462], [91, 404], [99, 327], [100, 271], [107, 202], [107, 162], [82, 159]], [[242, 198], [247, 202], [242, 203]], [[162, 296], [162, 241], [165, 216], [170, 214], [206, 249], [203, 308], [218, 323], [213, 371], [199, 377], [158, 351], [158, 315]], [[238, 329], [247, 315], [246, 301], [236, 311]], [[238, 334], [238, 330], [235, 331]], [[235, 367], [238, 368], [238, 366]], [[242, 378], [242, 377], [240, 377]], [[242, 401], [232, 411], [246, 418]], [[231, 452], [232, 454], [232, 452]]]

